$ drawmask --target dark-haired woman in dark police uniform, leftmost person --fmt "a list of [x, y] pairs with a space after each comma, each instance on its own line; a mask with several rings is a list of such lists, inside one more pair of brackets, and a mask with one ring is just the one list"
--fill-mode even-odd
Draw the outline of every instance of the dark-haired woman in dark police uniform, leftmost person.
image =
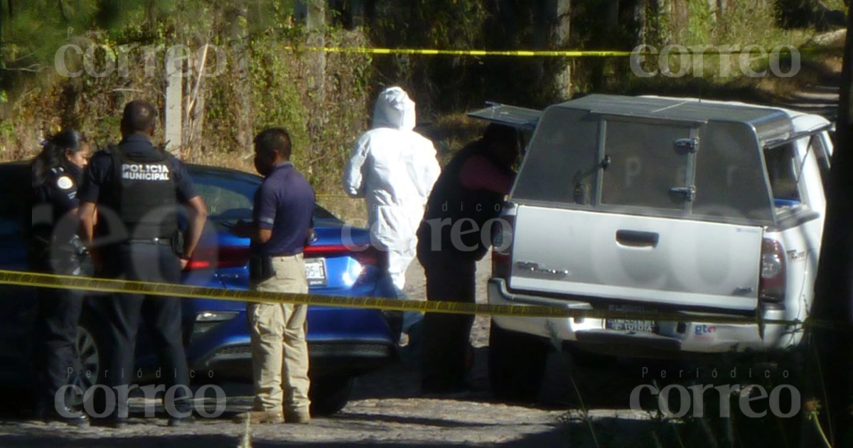
[[[42, 143], [32, 160], [32, 271], [84, 274], [88, 263], [78, 237], [77, 185], [90, 153], [90, 145], [78, 131], [61, 131]], [[77, 373], [77, 324], [84, 293], [72, 289], [38, 289], [36, 343], [33, 347], [39, 388], [37, 409], [45, 421], [86, 425], [88, 418], [64, 412], [65, 397], [56, 394]]]

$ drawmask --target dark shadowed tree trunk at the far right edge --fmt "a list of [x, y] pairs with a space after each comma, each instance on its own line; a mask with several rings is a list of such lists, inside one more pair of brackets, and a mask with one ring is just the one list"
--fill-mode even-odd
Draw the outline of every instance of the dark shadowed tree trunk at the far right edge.
[[[810, 328], [811, 346], [807, 364], [808, 402], [821, 404], [820, 422], [834, 447], [853, 446], [850, 405], [851, 340], [847, 330], [853, 322], [853, 207], [844, 205], [853, 194], [853, 15], [848, 13], [844, 65], [838, 99], [838, 143], [829, 174], [827, 218], [821, 241], [820, 263], [815, 283], [811, 317], [842, 329]], [[804, 412], [804, 414], [807, 414]], [[802, 446], [824, 445], [814, 423], [804, 421]]]

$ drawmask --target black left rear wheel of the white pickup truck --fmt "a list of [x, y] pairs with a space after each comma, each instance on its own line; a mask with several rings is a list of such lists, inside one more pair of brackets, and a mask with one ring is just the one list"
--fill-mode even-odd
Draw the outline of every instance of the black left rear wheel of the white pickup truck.
[[496, 399], [533, 403], [542, 388], [549, 347], [536, 336], [489, 330], [489, 382]]

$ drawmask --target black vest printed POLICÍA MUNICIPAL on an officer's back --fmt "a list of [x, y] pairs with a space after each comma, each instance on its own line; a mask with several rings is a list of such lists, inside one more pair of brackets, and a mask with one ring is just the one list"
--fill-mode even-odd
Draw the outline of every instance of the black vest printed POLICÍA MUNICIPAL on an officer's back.
[[113, 148], [116, 212], [134, 239], [169, 238], [177, 230], [177, 186], [168, 154], [131, 157]]

